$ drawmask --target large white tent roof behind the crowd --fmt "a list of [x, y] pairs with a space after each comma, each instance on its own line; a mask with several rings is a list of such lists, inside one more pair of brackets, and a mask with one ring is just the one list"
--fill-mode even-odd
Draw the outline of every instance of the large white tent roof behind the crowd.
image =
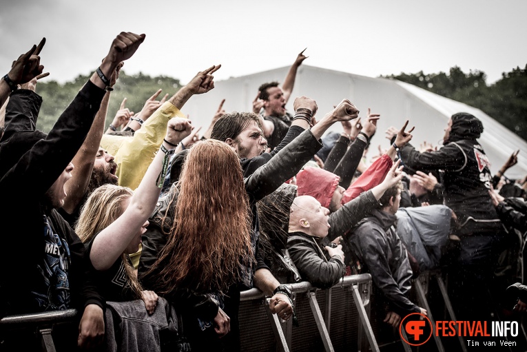
[[[225, 99], [223, 107], [227, 112], [251, 111], [258, 86], [269, 81], [282, 83], [287, 70], [288, 67], [278, 68], [215, 82], [214, 90], [190, 99], [183, 112], [189, 114], [194, 125], [203, 126], [201, 132], [204, 132], [221, 99]], [[437, 145], [442, 141], [448, 118], [456, 112], [468, 112], [479, 118], [484, 125], [485, 131], [479, 142], [490, 159], [491, 171], [497, 172], [510, 154], [520, 149], [518, 164], [506, 176], [520, 178], [527, 174], [526, 141], [481, 110], [415, 85], [302, 65], [298, 69], [295, 87], [287, 103], [289, 111], [293, 110], [294, 98], [300, 95], [316, 100], [319, 118], [344, 98], [359, 108], [361, 117], [366, 116], [367, 108], [371, 107], [373, 113], [381, 115], [378, 132], [371, 141], [375, 149], [377, 145], [388, 147], [384, 131], [390, 126], [402, 127], [406, 119], [410, 121], [409, 126], [415, 126], [411, 142], [415, 147], [419, 147], [423, 141]], [[341, 132], [342, 127], [333, 125], [332, 130]]]

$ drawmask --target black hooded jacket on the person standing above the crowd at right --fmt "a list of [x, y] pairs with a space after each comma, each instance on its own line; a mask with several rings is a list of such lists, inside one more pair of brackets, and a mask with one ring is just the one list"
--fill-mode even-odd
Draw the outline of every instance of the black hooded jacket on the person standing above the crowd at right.
[[448, 141], [437, 152], [420, 153], [410, 144], [400, 151], [412, 174], [417, 170], [444, 170], [444, 200], [459, 219], [458, 235], [496, 234], [502, 228], [488, 194], [492, 183], [490, 163], [477, 142], [482, 132], [481, 121], [460, 112], [452, 116]]

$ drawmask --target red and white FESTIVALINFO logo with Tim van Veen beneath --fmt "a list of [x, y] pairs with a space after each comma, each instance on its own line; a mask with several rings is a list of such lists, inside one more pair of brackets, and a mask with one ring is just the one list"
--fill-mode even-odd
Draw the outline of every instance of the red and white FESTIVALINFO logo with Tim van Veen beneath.
[[[464, 321], [464, 320], [437, 320], [435, 327], [426, 315], [421, 313], [411, 313], [406, 315], [399, 325], [401, 339], [411, 346], [421, 346], [430, 340], [432, 335], [462, 336], [466, 338], [485, 338], [497, 337], [506, 338], [518, 335], [518, 322], [501, 321], [488, 322]], [[468, 346], [479, 346], [479, 342], [470, 339], [466, 340]], [[486, 344], [485, 342], [483, 342]], [[515, 346], [515, 342], [501, 341], [502, 346]], [[488, 342], [489, 346], [495, 345], [494, 341]]]

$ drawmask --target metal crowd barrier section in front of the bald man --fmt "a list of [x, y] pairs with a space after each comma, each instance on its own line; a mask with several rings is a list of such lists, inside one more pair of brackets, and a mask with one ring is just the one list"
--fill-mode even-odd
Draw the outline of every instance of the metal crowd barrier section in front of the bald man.
[[241, 293], [242, 351], [379, 351], [369, 322], [371, 276], [345, 276], [331, 289], [288, 284], [298, 327], [269, 311], [258, 289]]

